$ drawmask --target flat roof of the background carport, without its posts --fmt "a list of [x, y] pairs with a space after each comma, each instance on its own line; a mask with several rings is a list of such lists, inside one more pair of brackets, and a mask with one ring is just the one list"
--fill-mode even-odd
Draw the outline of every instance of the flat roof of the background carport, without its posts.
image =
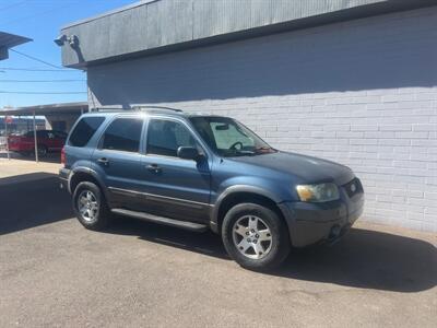
[[78, 103], [62, 103], [62, 104], [49, 104], [49, 105], [37, 105], [17, 108], [3, 108], [0, 109], [0, 116], [47, 116], [47, 115], [59, 115], [59, 114], [81, 114], [88, 110], [88, 104], [86, 102]]

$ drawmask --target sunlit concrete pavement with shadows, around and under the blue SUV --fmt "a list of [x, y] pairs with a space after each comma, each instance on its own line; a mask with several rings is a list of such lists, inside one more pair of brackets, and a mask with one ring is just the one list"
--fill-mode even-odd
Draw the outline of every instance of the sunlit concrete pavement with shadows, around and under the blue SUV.
[[212, 233], [86, 231], [50, 171], [2, 179], [0, 327], [437, 327], [435, 234], [362, 222], [263, 274]]

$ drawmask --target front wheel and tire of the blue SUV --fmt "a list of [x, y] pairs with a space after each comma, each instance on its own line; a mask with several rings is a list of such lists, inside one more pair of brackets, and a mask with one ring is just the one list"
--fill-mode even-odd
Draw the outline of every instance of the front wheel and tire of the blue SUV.
[[277, 267], [290, 253], [290, 236], [280, 215], [257, 203], [240, 203], [225, 215], [223, 244], [228, 255], [250, 270]]

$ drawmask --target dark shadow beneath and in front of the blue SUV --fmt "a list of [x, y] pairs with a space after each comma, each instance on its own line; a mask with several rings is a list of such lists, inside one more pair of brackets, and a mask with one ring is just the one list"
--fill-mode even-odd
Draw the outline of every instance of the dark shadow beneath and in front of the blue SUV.
[[[229, 259], [218, 235], [193, 233], [133, 219], [116, 220], [107, 233]], [[352, 229], [339, 243], [293, 249], [279, 269], [264, 273], [351, 288], [418, 292], [437, 284], [437, 249], [427, 242]]]

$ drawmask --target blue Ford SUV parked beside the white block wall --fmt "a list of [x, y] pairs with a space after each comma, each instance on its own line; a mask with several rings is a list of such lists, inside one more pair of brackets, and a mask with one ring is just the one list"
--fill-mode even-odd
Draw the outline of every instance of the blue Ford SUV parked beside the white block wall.
[[346, 166], [275, 150], [228, 117], [85, 114], [61, 157], [61, 186], [86, 229], [104, 229], [114, 214], [211, 229], [249, 269], [277, 266], [291, 247], [335, 241], [364, 207]]

